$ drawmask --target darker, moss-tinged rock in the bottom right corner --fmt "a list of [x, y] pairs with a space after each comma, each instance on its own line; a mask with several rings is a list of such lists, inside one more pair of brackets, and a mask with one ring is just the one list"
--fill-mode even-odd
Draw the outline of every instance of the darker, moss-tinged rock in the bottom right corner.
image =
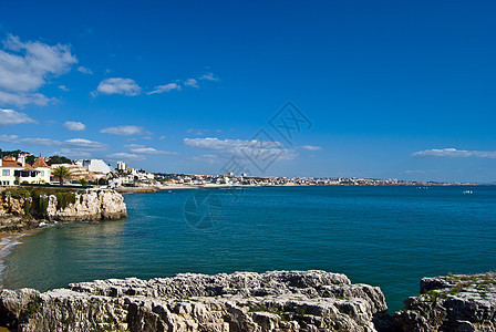
[[496, 331], [496, 274], [424, 278], [394, 314], [403, 331]]

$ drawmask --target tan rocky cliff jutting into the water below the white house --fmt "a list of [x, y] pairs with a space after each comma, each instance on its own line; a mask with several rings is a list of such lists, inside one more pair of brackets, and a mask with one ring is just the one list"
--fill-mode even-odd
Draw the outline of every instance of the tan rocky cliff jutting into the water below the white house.
[[59, 221], [99, 221], [127, 217], [124, 198], [114, 190], [23, 190], [1, 193], [0, 232], [20, 232]]

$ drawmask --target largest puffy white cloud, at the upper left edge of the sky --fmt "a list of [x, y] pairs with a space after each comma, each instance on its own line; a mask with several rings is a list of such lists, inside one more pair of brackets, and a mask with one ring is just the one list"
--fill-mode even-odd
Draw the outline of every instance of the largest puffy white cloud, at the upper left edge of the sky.
[[46, 80], [71, 70], [78, 59], [68, 45], [22, 42], [9, 34], [0, 50], [0, 103], [46, 104], [50, 98], [34, 94]]

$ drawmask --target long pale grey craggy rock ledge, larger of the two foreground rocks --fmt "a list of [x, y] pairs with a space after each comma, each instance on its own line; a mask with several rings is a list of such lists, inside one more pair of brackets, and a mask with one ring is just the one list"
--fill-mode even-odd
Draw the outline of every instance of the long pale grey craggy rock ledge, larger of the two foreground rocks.
[[324, 271], [177, 274], [3, 290], [0, 320], [20, 331], [375, 331], [382, 291]]

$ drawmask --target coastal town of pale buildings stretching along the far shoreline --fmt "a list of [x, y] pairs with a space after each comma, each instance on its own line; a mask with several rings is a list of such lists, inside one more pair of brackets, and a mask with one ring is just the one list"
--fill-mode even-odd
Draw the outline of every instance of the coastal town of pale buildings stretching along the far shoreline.
[[[103, 159], [71, 160], [66, 157], [34, 157], [30, 153], [1, 152], [0, 185], [93, 186], [121, 191], [177, 188], [215, 188], [229, 186], [431, 186], [475, 185], [473, 183], [411, 181], [356, 177], [264, 177], [247, 174], [173, 174], [148, 173], [117, 162], [115, 167]], [[56, 173], [65, 169], [60, 183]]]

